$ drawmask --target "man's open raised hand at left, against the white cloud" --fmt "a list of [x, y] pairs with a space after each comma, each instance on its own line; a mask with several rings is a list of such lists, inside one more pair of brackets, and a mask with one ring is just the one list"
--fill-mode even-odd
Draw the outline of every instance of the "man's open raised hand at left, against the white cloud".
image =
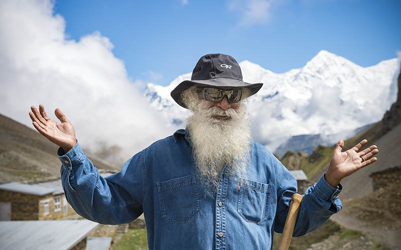
[[56, 108], [54, 113], [61, 123], [52, 120], [46, 114], [45, 107], [42, 104], [39, 105], [39, 112], [35, 106], [31, 106], [31, 110], [29, 116], [32, 119], [32, 124], [42, 135], [61, 146], [64, 152], [73, 148], [77, 143], [74, 127], [59, 108]]

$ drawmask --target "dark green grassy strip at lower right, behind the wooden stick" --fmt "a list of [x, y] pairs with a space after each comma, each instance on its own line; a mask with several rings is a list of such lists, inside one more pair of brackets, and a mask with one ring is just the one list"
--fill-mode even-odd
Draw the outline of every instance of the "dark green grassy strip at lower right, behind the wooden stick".
[[[311, 244], [320, 242], [332, 235], [335, 232], [341, 230], [340, 225], [332, 220], [328, 220], [319, 229], [305, 234], [300, 237], [292, 237], [289, 249], [291, 250], [303, 250], [307, 249]], [[278, 249], [281, 239], [281, 233], [274, 233], [273, 249]]]

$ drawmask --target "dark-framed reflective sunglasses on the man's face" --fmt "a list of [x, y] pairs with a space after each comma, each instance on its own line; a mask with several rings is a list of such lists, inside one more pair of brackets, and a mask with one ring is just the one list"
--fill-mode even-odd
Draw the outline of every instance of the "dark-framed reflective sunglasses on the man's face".
[[242, 89], [219, 89], [215, 87], [197, 87], [196, 92], [202, 94], [205, 100], [219, 102], [225, 95], [229, 102], [238, 102], [241, 100]]

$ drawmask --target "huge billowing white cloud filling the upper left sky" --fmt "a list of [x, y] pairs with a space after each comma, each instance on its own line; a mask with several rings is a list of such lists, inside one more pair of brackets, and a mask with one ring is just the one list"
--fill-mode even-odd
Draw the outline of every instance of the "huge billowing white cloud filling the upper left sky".
[[31, 105], [43, 103], [48, 114], [59, 107], [81, 145], [118, 144], [125, 156], [171, 134], [110, 40], [97, 31], [66, 39], [53, 7], [51, 0], [0, 1], [0, 113], [33, 127]]

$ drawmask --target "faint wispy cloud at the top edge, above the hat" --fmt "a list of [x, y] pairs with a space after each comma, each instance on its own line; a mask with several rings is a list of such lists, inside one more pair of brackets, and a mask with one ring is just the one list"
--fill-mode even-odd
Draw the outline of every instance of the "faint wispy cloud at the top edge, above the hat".
[[240, 13], [240, 25], [265, 23], [271, 16], [273, 0], [231, 0], [229, 10]]

